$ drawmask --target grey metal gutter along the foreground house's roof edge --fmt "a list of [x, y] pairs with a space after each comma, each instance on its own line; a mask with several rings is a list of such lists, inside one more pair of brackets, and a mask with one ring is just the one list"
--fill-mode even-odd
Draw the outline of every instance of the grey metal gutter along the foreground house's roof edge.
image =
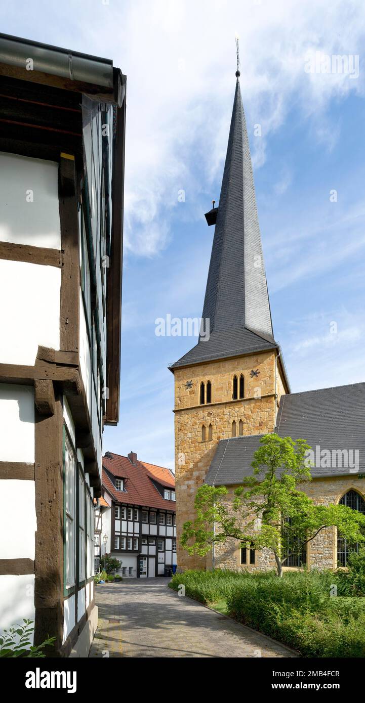
[[[30, 63], [32, 61], [32, 63]], [[113, 61], [0, 34], [0, 63], [113, 90]], [[27, 66], [32, 66], [28, 68]]]

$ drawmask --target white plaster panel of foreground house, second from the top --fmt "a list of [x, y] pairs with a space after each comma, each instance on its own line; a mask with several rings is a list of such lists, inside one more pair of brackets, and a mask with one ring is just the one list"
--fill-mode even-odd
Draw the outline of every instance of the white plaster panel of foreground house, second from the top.
[[60, 269], [0, 260], [0, 363], [34, 365], [38, 345], [60, 348]]

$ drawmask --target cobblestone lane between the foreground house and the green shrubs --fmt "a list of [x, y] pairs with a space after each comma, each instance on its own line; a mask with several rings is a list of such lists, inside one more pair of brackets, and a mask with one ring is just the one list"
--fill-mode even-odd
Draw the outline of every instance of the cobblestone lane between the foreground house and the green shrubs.
[[99, 624], [89, 657], [296, 657], [167, 588], [169, 579], [96, 586]]

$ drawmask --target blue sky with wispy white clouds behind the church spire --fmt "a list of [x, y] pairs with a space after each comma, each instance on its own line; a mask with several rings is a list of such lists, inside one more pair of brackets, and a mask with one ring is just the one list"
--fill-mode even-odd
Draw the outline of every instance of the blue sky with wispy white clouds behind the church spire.
[[[213, 235], [204, 212], [219, 200], [236, 33], [274, 333], [292, 390], [365, 380], [361, 0], [18, 0], [1, 4], [0, 18], [2, 32], [113, 58], [127, 74], [121, 408], [105, 451], [173, 467], [167, 365], [196, 340], [157, 337], [155, 319], [203, 309]], [[359, 56], [358, 77], [306, 72], [314, 51]]]

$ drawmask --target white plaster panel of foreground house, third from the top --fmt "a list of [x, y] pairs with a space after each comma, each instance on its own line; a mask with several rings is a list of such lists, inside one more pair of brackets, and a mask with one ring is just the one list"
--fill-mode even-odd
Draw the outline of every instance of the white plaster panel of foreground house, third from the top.
[[0, 383], [0, 461], [34, 463], [32, 386]]

